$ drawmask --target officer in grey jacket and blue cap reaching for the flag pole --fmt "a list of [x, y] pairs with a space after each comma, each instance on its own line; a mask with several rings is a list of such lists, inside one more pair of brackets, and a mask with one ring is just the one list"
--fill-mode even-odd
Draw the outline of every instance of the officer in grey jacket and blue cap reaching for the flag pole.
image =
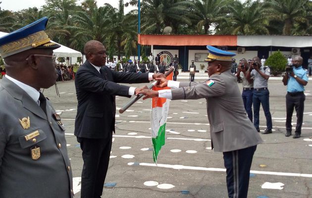
[[137, 94], [147, 98], [206, 98], [210, 124], [211, 148], [223, 152], [229, 198], [247, 198], [249, 172], [260, 135], [246, 115], [237, 79], [231, 73], [231, 57], [235, 53], [207, 46], [208, 74], [205, 82], [160, 80], [161, 91], [142, 89]]

